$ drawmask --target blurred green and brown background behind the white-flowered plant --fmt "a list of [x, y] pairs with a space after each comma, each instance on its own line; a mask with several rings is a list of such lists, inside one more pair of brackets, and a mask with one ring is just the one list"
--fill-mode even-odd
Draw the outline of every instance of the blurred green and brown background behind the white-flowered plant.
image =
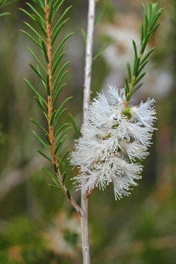
[[[86, 29], [87, 2], [66, 0], [62, 6], [63, 11], [73, 4], [71, 21], [61, 37], [72, 31], [75, 35], [67, 41], [71, 64], [58, 106], [73, 95], [68, 107], [78, 126], [85, 55], [80, 29]], [[96, 15], [103, 10], [103, 17], [95, 28], [94, 55], [109, 39], [114, 44], [94, 62], [92, 98], [102, 88], [106, 90], [107, 84], [123, 86], [125, 63], [133, 57], [131, 39], [139, 38], [142, 2], [149, 6], [150, 1], [139, 0], [102, 0], [97, 5]], [[35, 151], [40, 146], [28, 117], [42, 124], [44, 118], [23, 77], [42, 86], [28, 66], [33, 57], [26, 46], [33, 44], [19, 31], [26, 30], [23, 21], [28, 17], [18, 7], [28, 10], [25, 1], [19, 1], [6, 8], [12, 14], [0, 20], [0, 264], [82, 263], [79, 219], [64, 196], [48, 186], [51, 179], [40, 167], [49, 164]], [[150, 41], [157, 49], [150, 59], [146, 84], [132, 102], [155, 97], [158, 130], [150, 156], [143, 162], [143, 178], [130, 197], [115, 201], [109, 186], [105, 191], [96, 189], [89, 198], [91, 263], [176, 263], [175, 1], [161, 0], [161, 7], [162, 23]], [[67, 115], [63, 118], [69, 120]], [[67, 149], [73, 148], [74, 139], [72, 130]], [[79, 192], [72, 194], [79, 202]]]

